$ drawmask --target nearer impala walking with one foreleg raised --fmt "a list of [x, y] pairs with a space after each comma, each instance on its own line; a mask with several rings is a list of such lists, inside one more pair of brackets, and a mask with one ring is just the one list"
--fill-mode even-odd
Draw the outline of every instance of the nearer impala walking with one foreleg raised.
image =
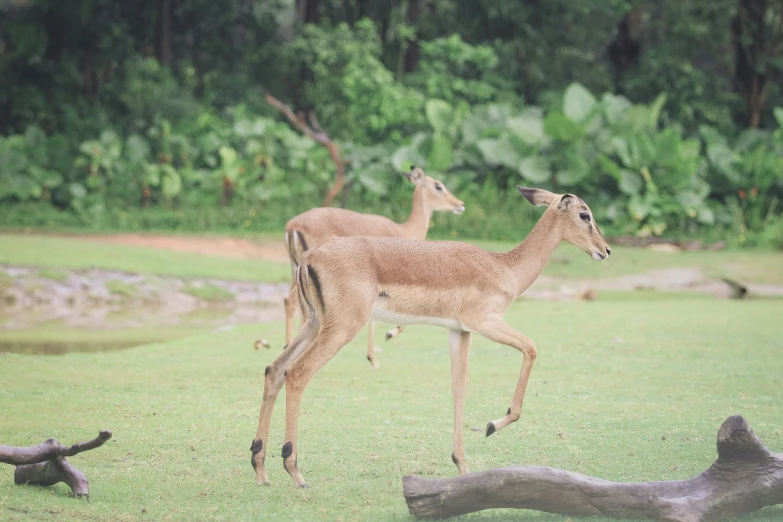
[[468, 472], [462, 410], [474, 332], [524, 355], [511, 405], [505, 415], [487, 424], [487, 436], [519, 418], [536, 346], [506, 324], [506, 308], [535, 281], [561, 241], [594, 259], [603, 260], [610, 254], [581, 199], [545, 190], [519, 190], [532, 204], [548, 208], [530, 235], [510, 252], [487, 252], [450, 241], [348, 237], [333, 239], [302, 256], [296, 280], [305, 320], [296, 339], [266, 367], [258, 431], [250, 447], [259, 484], [268, 484], [264, 468], [267, 436], [275, 400], [285, 382], [283, 466], [297, 487], [307, 487], [297, 464], [302, 394], [318, 370], [370, 318], [448, 329], [454, 399], [451, 458], [460, 475]]

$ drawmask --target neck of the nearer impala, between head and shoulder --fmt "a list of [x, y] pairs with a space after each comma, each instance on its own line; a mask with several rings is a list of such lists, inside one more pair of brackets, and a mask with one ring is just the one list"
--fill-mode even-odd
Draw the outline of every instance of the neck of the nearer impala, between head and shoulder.
[[561, 241], [556, 229], [555, 214], [546, 211], [522, 243], [502, 257], [517, 275], [516, 295], [528, 289], [538, 279]]

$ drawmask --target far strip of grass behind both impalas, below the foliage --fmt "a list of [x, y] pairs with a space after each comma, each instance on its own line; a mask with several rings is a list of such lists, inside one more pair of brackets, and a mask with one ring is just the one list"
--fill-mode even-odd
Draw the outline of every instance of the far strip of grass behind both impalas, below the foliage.
[[[279, 238], [259, 236], [263, 241]], [[520, 238], [521, 240], [521, 238]], [[475, 241], [494, 251], [515, 243]], [[676, 254], [616, 247], [612, 257], [597, 263], [581, 250], [562, 245], [544, 274], [559, 277], [605, 278], [654, 269], [698, 267], [711, 277], [731, 277], [752, 283], [783, 284], [783, 253], [775, 251], [699, 251]], [[0, 234], [0, 264], [49, 268], [106, 268], [178, 277], [215, 277], [247, 281], [288, 281], [288, 263], [231, 259], [129, 245], [46, 235]], [[52, 272], [56, 273], [56, 272]]]

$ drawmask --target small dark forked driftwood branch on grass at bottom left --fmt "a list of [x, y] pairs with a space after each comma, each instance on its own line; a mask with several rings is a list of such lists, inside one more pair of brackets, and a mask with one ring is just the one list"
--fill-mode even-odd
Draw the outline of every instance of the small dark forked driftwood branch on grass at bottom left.
[[110, 431], [101, 431], [96, 438], [73, 446], [63, 446], [54, 439], [28, 447], [0, 445], [0, 462], [16, 466], [15, 484], [53, 486], [65, 482], [74, 495], [89, 498], [87, 477], [74, 468], [66, 457], [98, 448], [110, 438]]

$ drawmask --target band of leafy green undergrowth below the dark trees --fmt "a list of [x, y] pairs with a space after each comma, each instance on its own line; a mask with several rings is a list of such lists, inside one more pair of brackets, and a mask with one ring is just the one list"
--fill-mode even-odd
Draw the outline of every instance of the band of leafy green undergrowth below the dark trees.
[[[589, 197], [614, 233], [698, 233], [717, 226], [733, 230], [740, 242], [769, 234], [764, 231], [779, 220], [783, 189], [783, 109], [775, 111], [776, 130], [748, 130], [730, 140], [708, 126], [694, 136], [662, 126], [665, 103], [665, 95], [649, 105], [609, 93], [598, 99], [579, 84], [548, 110], [431, 98], [421, 111], [426, 125], [405, 142], [346, 144], [353, 206], [378, 209], [391, 197], [407, 208], [402, 201], [409, 191], [398, 188], [398, 173], [421, 165], [463, 198], [472, 194], [481, 202], [473, 212], [468, 205], [467, 222], [480, 216], [492, 223], [486, 216], [496, 211], [493, 198], [498, 205], [503, 199], [497, 187], [525, 183]], [[204, 113], [177, 128], [164, 119], [127, 136], [106, 130], [77, 151], [63, 136], [30, 127], [0, 138], [0, 160], [3, 202], [46, 202], [85, 220], [100, 219], [108, 209], [127, 215], [160, 207], [180, 216], [190, 212], [191, 223], [209, 221], [203, 209], [235, 208], [242, 209], [237, 215], [245, 228], [256, 215], [269, 224], [272, 211], [292, 215], [294, 208], [317, 204], [334, 176], [323, 147], [243, 107]], [[256, 214], [246, 216], [247, 209]], [[401, 218], [404, 211], [388, 213]], [[180, 221], [177, 227], [189, 227]], [[482, 237], [503, 236], [477, 223], [471, 228]]]

